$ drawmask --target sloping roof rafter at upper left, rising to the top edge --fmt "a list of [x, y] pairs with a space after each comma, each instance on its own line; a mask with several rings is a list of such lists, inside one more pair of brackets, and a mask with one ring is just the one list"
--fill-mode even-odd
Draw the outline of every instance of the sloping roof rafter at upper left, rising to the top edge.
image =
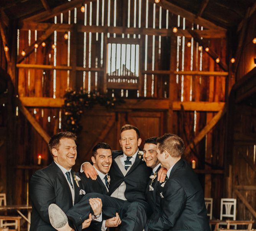
[[59, 5], [58, 7], [55, 7], [51, 10], [51, 12], [49, 11], [44, 11], [41, 13], [38, 13], [36, 15], [30, 16], [28, 18], [25, 18], [23, 20], [23, 22], [27, 22], [27, 21], [34, 21], [34, 22], [41, 22], [41, 21], [45, 21], [49, 18], [52, 18], [54, 16], [58, 16], [60, 13], [66, 13], [69, 10], [72, 10], [74, 7], [81, 7], [82, 3], [89, 3], [92, 2], [91, 0], [73, 0], [71, 2], [67, 2], [64, 3], [62, 5]]

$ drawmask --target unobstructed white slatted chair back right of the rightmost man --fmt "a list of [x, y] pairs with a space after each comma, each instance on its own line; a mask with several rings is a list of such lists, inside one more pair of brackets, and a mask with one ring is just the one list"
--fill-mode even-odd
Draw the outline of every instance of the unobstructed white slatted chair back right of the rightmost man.
[[221, 198], [220, 202], [220, 220], [223, 217], [232, 218], [236, 220], [236, 199], [235, 198]]

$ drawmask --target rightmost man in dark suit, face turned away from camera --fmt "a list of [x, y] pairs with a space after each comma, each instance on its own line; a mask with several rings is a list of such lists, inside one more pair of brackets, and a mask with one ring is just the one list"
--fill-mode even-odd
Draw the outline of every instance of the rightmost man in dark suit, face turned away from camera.
[[193, 169], [181, 159], [183, 152], [183, 140], [177, 135], [165, 133], [157, 139], [157, 158], [168, 170], [168, 179], [160, 185], [160, 212], [147, 221], [145, 231], [210, 231], [203, 189]]

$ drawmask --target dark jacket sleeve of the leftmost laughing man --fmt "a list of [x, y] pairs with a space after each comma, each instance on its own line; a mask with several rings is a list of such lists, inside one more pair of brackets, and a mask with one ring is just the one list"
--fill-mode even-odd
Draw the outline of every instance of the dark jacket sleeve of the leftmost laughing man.
[[50, 224], [48, 207], [56, 203], [55, 191], [49, 177], [43, 171], [36, 171], [30, 180], [30, 198], [42, 220]]

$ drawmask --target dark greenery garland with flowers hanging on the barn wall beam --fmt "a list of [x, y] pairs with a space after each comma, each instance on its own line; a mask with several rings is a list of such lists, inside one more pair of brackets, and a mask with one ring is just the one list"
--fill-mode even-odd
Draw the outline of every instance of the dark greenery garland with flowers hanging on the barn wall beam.
[[109, 97], [107, 94], [86, 93], [83, 89], [77, 92], [69, 89], [64, 94], [63, 129], [78, 134], [83, 128], [80, 119], [85, 110], [91, 109], [97, 103], [107, 109], [114, 109], [117, 104], [124, 102], [124, 99]]

